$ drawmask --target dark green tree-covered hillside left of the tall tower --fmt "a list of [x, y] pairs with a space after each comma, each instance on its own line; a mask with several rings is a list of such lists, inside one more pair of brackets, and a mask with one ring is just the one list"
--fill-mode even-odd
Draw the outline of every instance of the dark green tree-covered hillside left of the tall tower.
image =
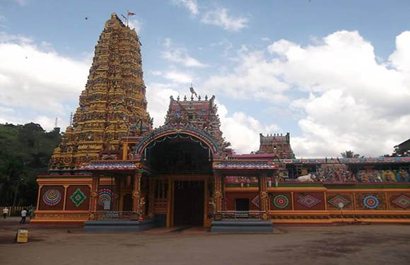
[[0, 124], [0, 205], [35, 204], [35, 179], [47, 173], [60, 141], [59, 129], [46, 132], [35, 123]]

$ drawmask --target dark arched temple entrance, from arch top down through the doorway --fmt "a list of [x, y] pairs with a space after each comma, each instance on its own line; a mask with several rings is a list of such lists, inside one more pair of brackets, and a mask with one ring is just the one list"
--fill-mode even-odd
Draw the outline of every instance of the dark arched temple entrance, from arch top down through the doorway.
[[[166, 198], [167, 226], [204, 225], [207, 185], [213, 176], [212, 158], [210, 146], [189, 134], [168, 134], [146, 145], [143, 160], [151, 171], [149, 177], [170, 185]], [[152, 197], [160, 200], [158, 194]], [[156, 202], [152, 210], [163, 215], [156, 211]]]

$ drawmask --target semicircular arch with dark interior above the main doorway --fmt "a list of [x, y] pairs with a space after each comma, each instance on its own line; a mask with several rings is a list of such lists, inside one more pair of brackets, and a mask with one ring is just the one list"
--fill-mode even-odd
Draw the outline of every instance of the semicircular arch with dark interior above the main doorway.
[[153, 139], [141, 158], [157, 174], [212, 173], [212, 146], [192, 134], [173, 133]]

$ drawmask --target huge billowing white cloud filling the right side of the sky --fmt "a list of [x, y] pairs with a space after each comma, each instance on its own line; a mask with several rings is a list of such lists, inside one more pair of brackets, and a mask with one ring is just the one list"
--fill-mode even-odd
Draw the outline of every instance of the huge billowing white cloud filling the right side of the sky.
[[332, 33], [306, 47], [288, 40], [262, 51], [242, 47], [236, 66], [223, 68], [204, 87], [274, 106], [288, 100], [299, 119], [301, 134], [291, 139], [298, 157], [392, 153], [409, 138], [410, 32], [396, 45], [389, 61], [379, 61], [356, 31]]

